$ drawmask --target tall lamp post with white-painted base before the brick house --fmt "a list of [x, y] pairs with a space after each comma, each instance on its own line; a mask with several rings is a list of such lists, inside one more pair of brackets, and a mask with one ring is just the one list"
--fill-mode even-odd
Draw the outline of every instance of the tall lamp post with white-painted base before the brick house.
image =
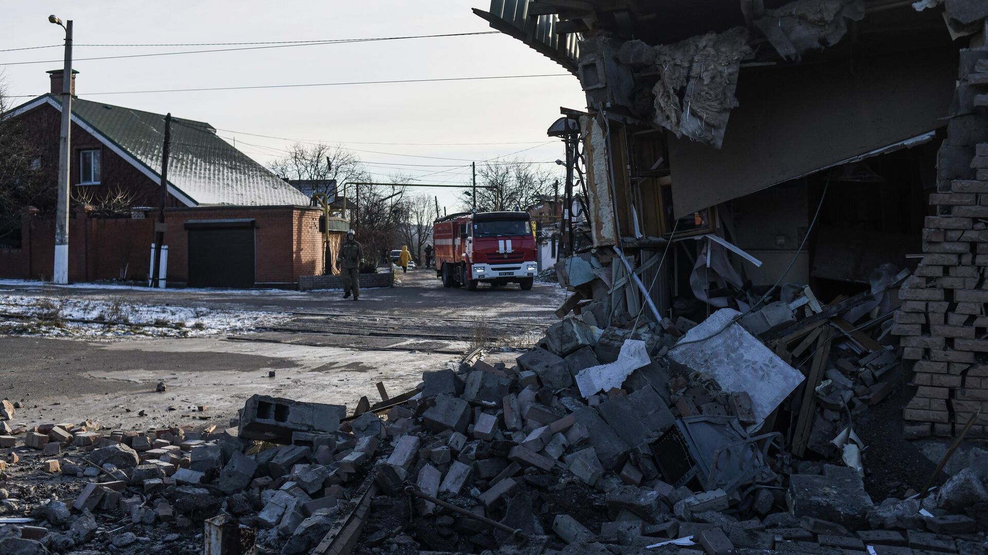
[[55, 260], [51, 280], [68, 283], [68, 198], [69, 162], [72, 155], [72, 21], [62, 25], [51, 15], [48, 21], [65, 30], [65, 66], [62, 70], [62, 125], [58, 141], [58, 204], [55, 206]]

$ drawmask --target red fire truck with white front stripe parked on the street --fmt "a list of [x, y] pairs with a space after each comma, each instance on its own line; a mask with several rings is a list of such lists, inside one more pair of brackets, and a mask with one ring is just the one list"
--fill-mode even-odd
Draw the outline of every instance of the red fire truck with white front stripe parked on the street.
[[462, 212], [433, 224], [436, 241], [436, 277], [447, 287], [477, 283], [491, 286], [508, 282], [532, 288], [535, 235], [528, 212]]

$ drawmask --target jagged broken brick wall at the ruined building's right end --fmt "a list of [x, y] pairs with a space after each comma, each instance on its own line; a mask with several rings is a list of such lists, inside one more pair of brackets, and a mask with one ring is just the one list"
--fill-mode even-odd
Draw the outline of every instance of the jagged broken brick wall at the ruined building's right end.
[[935, 215], [923, 262], [900, 289], [893, 333], [916, 360], [907, 436], [988, 437], [988, 48], [961, 50], [947, 140], [938, 157]]

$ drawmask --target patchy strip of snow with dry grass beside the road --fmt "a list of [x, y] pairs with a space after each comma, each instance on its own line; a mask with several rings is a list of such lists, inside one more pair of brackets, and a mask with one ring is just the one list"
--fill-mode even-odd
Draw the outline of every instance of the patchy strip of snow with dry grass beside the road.
[[268, 328], [288, 318], [278, 312], [136, 304], [124, 296], [72, 299], [57, 290], [0, 293], [0, 335], [201, 337]]

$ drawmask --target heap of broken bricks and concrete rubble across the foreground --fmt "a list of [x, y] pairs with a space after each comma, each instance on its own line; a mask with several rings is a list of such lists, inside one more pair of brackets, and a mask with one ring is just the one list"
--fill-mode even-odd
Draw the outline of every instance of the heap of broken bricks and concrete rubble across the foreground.
[[732, 389], [702, 364], [733, 345], [747, 366], [805, 378], [740, 324], [719, 347], [685, 345], [708, 320], [632, 332], [567, 318], [514, 366], [426, 372], [349, 416], [255, 395], [225, 431], [11, 429], [5, 401], [0, 553], [983, 552], [988, 470], [922, 500], [864, 490], [848, 419], [883, 396], [871, 387], [893, 351], [816, 368], [799, 458], [767, 416], [780, 391]]

